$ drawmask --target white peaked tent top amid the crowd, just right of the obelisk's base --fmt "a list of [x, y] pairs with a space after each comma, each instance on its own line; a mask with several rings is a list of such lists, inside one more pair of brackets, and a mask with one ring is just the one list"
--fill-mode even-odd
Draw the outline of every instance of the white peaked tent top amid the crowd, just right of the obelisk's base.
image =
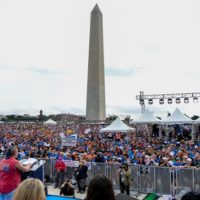
[[102, 128], [100, 132], [130, 132], [134, 130], [134, 128], [127, 126], [118, 117], [109, 126]]

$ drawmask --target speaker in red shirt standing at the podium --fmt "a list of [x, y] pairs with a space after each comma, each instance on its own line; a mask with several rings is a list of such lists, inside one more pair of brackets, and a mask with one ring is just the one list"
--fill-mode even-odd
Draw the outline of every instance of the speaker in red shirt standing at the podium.
[[18, 149], [11, 147], [6, 152], [6, 158], [0, 161], [0, 199], [11, 200], [15, 189], [21, 182], [22, 172], [28, 172], [32, 164], [23, 166], [16, 157]]

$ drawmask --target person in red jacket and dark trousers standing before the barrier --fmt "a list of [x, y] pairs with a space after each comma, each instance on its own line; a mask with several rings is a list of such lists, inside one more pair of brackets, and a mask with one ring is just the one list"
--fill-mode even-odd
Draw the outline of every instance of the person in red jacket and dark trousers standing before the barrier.
[[66, 168], [66, 165], [64, 161], [62, 160], [61, 156], [56, 161], [55, 168], [56, 168], [56, 184], [54, 188], [57, 188], [57, 187], [61, 188], [61, 185], [64, 182], [64, 175], [65, 175], [64, 173], [65, 173], [65, 168]]

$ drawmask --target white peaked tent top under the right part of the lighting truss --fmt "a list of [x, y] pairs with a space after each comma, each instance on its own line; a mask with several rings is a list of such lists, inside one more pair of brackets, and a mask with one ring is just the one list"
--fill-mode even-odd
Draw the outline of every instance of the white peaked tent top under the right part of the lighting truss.
[[178, 108], [165, 120], [162, 120], [166, 124], [192, 124], [194, 121], [185, 116]]

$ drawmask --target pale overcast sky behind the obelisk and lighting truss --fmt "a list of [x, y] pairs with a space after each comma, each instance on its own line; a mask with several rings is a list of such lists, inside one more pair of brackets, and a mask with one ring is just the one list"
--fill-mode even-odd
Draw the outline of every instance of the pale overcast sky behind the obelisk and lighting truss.
[[[199, 0], [0, 0], [0, 114], [85, 114], [90, 12], [103, 14], [106, 113], [145, 94], [199, 92]], [[197, 104], [147, 105], [156, 115]]]

